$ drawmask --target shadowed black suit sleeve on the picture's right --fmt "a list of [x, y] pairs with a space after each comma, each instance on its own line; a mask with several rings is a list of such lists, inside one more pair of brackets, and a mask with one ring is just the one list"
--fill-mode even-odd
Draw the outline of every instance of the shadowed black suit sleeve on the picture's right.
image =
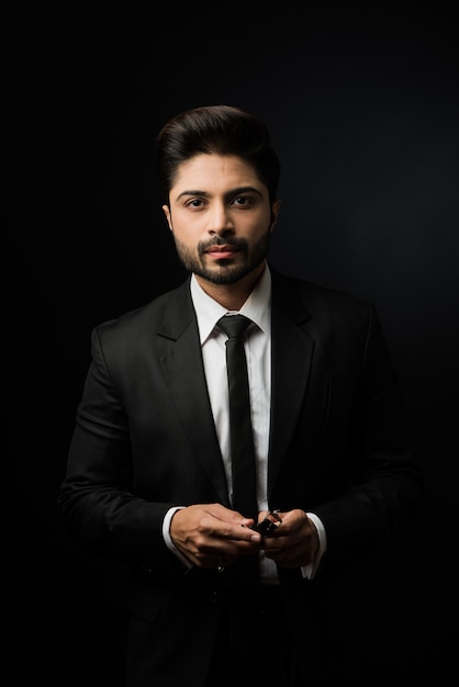
[[347, 446], [347, 488], [314, 508], [327, 534], [324, 562], [342, 566], [391, 542], [423, 503], [410, 418], [372, 305]]

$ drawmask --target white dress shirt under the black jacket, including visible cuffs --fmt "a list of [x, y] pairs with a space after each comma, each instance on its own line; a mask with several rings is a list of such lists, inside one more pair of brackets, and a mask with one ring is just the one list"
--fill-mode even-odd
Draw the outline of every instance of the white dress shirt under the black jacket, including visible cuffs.
[[[215, 326], [217, 320], [227, 314], [228, 311], [201, 289], [194, 275], [191, 277], [190, 288], [198, 318], [209, 396], [225, 468], [229, 499], [232, 500], [229, 413], [225, 357], [225, 341], [227, 337]], [[246, 330], [244, 346], [250, 388], [250, 419], [256, 457], [258, 509], [268, 510], [267, 472], [271, 405], [271, 274], [268, 266], [266, 266], [260, 281], [238, 313], [253, 322]], [[179, 507], [171, 508], [166, 515], [163, 534], [168, 547], [183, 562], [190, 565], [190, 562], [173, 547], [169, 534], [170, 520]], [[325, 551], [326, 539], [321, 520], [314, 514], [307, 515], [318, 530], [321, 542], [318, 555], [316, 555], [314, 564], [302, 568], [303, 576], [312, 578]], [[260, 554], [260, 582], [265, 584], [278, 582], [276, 564], [262, 553]]]

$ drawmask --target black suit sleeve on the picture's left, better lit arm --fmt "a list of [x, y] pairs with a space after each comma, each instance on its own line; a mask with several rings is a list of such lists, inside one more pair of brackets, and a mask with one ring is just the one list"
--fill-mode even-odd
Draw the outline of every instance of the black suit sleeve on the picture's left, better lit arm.
[[78, 406], [58, 505], [70, 536], [97, 555], [156, 567], [168, 576], [178, 562], [167, 550], [163, 520], [172, 504], [132, 493], [128, 417], [105, 362], [100, 333]]

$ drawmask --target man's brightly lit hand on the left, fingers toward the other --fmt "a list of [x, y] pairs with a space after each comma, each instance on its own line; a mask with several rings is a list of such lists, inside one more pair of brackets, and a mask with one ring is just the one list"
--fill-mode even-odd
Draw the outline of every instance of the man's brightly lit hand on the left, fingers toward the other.
[[254, 520], [221, 504], [199, 504], [177, 510], [170, 536], [177, 549], [198, 567], [228, 565], [260, 549], [261, 536], [250, 529]]

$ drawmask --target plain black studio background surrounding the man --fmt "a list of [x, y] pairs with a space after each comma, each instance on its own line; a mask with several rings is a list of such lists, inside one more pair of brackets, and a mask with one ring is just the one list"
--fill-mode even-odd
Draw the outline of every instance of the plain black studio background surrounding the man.
[[403, 8], [4, 14], [10, 685], [122, 685], [122, 612], [104, 566], [64, 538], [56, 495], [91, 328], [184, 277], [154, 138], [214, 103], [271, 129], [283, 168], [272, 263], [376, 302], [425, 468], [421, 523], [339, 589], [362, 685], [454, 684], [458, 24], [438, 3]]

